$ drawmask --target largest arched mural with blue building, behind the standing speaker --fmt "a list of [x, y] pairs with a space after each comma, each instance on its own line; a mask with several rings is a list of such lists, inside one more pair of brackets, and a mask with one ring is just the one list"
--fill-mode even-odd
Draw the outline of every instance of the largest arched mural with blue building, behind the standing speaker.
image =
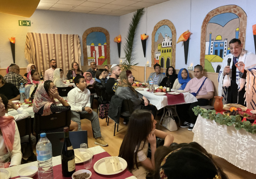
[[206, 15], [200, 56], [205, 71], [219, 73], [223, 58], [230, 53], [230, 40], [238, 38], [245, 44], [246, 20], [245, 12], [235, 5], [218, 7]]

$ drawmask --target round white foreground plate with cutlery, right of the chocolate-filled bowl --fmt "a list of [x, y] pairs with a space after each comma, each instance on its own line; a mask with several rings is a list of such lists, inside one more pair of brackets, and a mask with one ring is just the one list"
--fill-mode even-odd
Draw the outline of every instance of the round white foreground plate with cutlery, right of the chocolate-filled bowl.
[[105, 165], [106, 158], [113, 158], [113, 157], [105, 157], [105, 158], [98, 160], [93, 166], [93, 169], [95, 172], [100, 173], [101, 175], [115, 175], [117, 173], [121, 173], [127, 167], [127, 162], [125, 161], [125, 159], [118, 157], [122, 170], [113, 172], [113, 173], [108, 173], [106, 165]]

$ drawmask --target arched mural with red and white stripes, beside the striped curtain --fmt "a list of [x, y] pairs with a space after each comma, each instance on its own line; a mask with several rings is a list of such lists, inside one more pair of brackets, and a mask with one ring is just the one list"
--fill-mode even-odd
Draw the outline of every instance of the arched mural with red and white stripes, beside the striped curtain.
[[101, 27], [87, 29], [83, 36], [84, 65], [110, 64], [110, 39], [108, 31]]

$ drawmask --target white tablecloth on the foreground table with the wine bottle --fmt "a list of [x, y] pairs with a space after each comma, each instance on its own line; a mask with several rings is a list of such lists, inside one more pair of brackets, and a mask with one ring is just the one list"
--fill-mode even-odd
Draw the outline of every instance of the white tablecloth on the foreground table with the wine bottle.
[[[88, 148], [88, 149], [91, 150], [94, 155], [105, 152], [105, 150], [103, 148], [101, 148], [100, 146], [91, 147], [91, 148]], [[52, 161], [53, 161], [53, 166], [60, 165], [61, 164], [60, 155], [57, 156], [57, 157], [53, 157]], [[18, 176], [18, 171], [21, 168], [25, 167], [25, 166], [37, 166], [37, 161], [31, 162], [31, 163], [28, 163], [28, 164], [13, 166], [13, 167], [7, 168], [7, 170], [11, 172], [11, 178], [12, 178], [12, 177]], [[130, 176], [127, 179], [137, 179], [137, 178], [135, 176]]]

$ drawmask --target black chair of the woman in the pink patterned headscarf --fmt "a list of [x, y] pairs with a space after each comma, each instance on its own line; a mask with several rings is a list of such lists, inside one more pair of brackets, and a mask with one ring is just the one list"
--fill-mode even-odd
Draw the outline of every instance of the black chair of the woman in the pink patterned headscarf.
[[35, 132], [37, 141], [40, 137], [40, 131], [42, 130], [53, 130], [60, 127], [69, 127], [71, 123], [71, 110], [50, 114], [48, 116], [41, 116], [35, 113]]

